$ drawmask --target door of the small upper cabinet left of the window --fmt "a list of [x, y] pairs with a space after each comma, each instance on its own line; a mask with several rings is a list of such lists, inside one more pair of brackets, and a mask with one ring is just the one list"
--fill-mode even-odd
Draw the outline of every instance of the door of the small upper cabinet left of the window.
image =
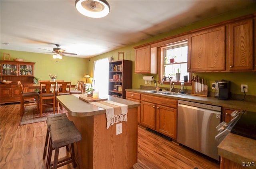
[[150, 73], [150, 45], [135, 49], [135, 73]]

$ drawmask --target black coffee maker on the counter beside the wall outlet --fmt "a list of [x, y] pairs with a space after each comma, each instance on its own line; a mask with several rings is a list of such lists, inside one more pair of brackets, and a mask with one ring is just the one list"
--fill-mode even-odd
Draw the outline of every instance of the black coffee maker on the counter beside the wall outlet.
[[228, 100], [230, 98], [230, 81], [218, 81], [218, 99], [219, 100]]

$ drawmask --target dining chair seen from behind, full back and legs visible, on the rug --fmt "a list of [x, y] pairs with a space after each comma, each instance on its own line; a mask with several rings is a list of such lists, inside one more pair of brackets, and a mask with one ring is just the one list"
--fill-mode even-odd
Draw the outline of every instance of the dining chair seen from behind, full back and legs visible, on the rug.
[[[43, 106], [52, 105], [55, 113], [55, 92], [56, 82], [40, 82], [40, 114], [42, 116]], [[51, 101], [50, 101], [51, 100]]]

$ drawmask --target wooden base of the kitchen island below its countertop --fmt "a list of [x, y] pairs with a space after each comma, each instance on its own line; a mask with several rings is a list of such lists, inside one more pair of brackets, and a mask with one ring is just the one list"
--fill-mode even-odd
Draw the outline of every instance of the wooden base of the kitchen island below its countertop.
[[68, 114], [80, 133], [77, 155], [81, 169], [130, 169], [137, 163], [137, 108], [129, 108], [122, 134], [116, 124], [106, 129], [106, 114], [78, 117]]

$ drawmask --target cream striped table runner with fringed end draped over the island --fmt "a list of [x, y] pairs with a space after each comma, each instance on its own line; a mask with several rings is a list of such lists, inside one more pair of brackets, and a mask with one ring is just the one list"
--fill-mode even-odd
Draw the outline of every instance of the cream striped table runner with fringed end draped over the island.
[[128, 106], [126, 104], [121, 104], [110, 100], [90, 102], [90, 104], [106, 109], [107, 129], [113, 124], [127, 122]]

